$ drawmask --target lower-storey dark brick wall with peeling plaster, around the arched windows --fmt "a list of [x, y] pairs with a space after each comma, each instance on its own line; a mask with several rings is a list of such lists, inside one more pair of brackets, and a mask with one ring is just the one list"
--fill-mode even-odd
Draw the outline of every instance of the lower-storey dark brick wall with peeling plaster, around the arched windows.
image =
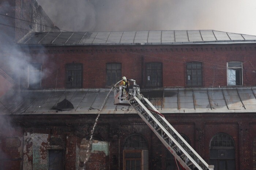
[[[231, 118], [232, 117], [232, 118]], [[181, 134], [191, 141], [191, 146], [208, 163], [211, 138], [218, 133], [230, 135], [235, 142], [236, 169], [255, 169], [253, 152], [255, 150], [255, 114], [214, 113], [214, 114], [165, 114], [165, 118]], [[65, 169], [82, 169], [77, 162], [79, 153], [76, 147], [82, 147], [81, 141], [90, 134], [95, 121], [88, 115], [29, 115], [15, 116], [14, 123], [26, 122], [30, 128], [22, 125], [24, 130], [23, 153], [16, 159], [23, 158], [23, 169], [47, 169], [48, 150], [64, 151]], [[65, 128], [63, 128], [65, 127]], [[148, 167], [161, 170], [166, 168], [166, 148], [151, 129], [137, 114], [100, 115], [94, 135], [109, 142], [109, 155], [103, 151], [93, 151], [86, 162], [87, 168], [123, 169], [123, 150], [125, 139], [132, 134], [142, 135], [148, 142]], [[13, 135], [15, 137], [15, 135]], [[12, 137], [12, 135], [10, 135]], [[60, 138], [61, 143], [52, 142]], [[10, 148], [15, 141], [9, 139], [8, 146], [1, 138], [4, 153], [19, 153], [19, 148]], [[13, 142], [13, 143], [12, 143]], [[20, 141], [21, 142], [21, 141]], [[21, 147], [22, 143], [19, 145]], [[23, 154], [23, 157], [22, 157]], [[13, 154], [14, 155], [14, 154]], [[100, 164], [95, 160], [101, 160]], [[5, 166], [6, 164], [2, 165]]]

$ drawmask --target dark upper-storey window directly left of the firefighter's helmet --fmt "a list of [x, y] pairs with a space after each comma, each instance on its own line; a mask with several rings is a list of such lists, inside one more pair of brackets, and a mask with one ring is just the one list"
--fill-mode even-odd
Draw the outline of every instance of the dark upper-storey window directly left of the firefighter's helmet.
[[107, 63], [106, 71], [106, 86], [113, 87], [119, 80], [121, 80], [121, 63]]

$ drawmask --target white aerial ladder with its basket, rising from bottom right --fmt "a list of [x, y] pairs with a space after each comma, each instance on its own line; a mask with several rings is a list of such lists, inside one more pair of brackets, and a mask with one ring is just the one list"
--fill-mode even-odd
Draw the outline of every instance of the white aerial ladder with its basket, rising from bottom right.
[[184, 170], [213, 170], [214, 165], [208, 165], [153, 104], [140, 94], [135, 80], [129, 81], [133, 82], [129, 88], [114, 86], [114, 104], [132, 106]]

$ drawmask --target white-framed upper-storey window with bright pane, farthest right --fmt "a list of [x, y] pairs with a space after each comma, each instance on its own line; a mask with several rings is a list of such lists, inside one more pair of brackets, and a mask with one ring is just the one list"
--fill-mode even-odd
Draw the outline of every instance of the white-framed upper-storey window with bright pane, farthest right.
[[242, 62], [227, 63], [227, 85], [240, 86], [242, 85]]

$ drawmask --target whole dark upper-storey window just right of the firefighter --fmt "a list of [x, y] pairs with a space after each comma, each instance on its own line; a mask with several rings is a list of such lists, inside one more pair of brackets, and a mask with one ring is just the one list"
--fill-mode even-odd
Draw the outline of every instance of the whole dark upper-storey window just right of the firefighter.
[[162, 87], [162, 63], [146, 63], [146, 86]]

